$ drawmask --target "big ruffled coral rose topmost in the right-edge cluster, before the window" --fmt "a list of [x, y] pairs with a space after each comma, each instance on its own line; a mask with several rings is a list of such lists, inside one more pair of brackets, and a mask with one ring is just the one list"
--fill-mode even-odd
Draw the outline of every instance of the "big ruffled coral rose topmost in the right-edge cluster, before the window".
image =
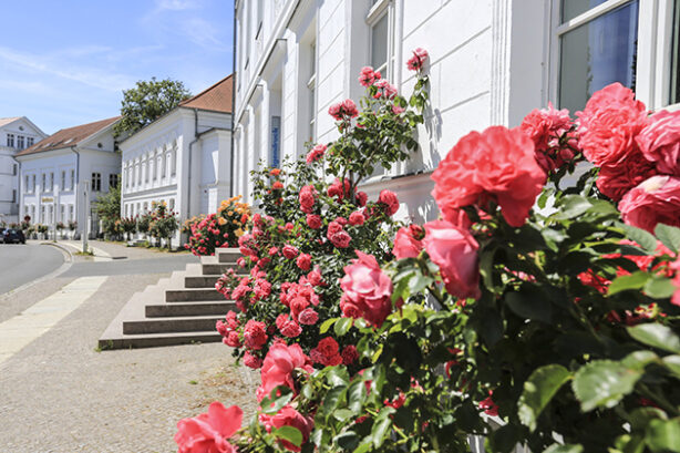
[[614, 166], [626, 159], [637, 148], [636, 136], [649, 122], [645, 104], [618, 82], [593, 94], [576, 116], [580, 123], [578, 144], [597, 166]]

